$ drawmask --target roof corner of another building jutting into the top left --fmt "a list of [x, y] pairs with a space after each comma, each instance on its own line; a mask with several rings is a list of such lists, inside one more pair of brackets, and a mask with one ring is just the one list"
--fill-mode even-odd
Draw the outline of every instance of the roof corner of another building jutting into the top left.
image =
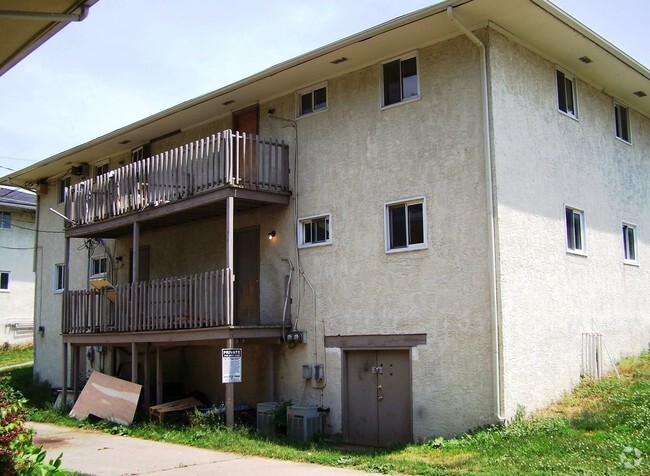
[[98, 0], [3, 0], [0, 76], [70, 22], [82, 21]]

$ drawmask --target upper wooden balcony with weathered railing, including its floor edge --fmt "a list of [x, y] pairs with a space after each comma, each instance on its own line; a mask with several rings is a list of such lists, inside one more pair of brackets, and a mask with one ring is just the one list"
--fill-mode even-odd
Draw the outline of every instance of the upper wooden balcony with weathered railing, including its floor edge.
[[138, 221], [165, 226], [239, 207], [289, 203], [289, 147], [226, 130], [68, 187], [69, 237], [118, 236]]

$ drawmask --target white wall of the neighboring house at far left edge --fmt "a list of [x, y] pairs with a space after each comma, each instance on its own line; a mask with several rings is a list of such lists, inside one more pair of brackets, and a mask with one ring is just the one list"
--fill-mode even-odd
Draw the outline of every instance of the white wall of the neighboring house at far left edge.
[[[34, 319], [34, 211], [0, 207], [12, 226], [0, 229], [0, 271], [9, 272], [9, 289], [0, 291], [0, 344], [32, 340]], [[18, 327], [16, 326], [18, 324]]]

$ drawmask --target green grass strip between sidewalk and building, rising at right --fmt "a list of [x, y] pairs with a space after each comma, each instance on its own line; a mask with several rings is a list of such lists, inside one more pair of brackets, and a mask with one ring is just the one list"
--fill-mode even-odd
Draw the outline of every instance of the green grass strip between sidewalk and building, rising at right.
[[196, 418], [189, 426], [146, 421], [136, 421], [130, 427], [105, 421], [78, 422], [45, 403], [49, 390], [30, 381], [31, 369], [17, 369], [12, 375], [16, 387], [30, 400], [33, 420], [200, 448], [387, 474], [650, 474], [650, 353], [624, 360], [619, 368], [622, 379], [614, 375], [584, 381], [572, 394], [542, 412], [525, 417], [522, 411], [507, 427], [388, 450], [347, 447], [336, 438], [309, 443], [266, 439], [247, 428], [229, 430]]

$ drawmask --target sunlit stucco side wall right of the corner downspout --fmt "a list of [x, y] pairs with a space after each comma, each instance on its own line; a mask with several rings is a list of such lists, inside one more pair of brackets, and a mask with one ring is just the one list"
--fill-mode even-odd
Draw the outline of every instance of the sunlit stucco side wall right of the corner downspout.
[[[647, 286], [650, 120], [631, 111], [615, 137], [613, 98], [577, 80], [579, 119], [558, 112], [555, 65], [490, 35], [506, 414], [580, 380], [581, 334], [613, 359], [650, 342]], [[564, 206], [585, 212], [587, 256], [566, 251]], [[639, 266], [623, 264], [622, 222], [638, 226]], [[609, 366], [609, 365], [608, 365]]]

